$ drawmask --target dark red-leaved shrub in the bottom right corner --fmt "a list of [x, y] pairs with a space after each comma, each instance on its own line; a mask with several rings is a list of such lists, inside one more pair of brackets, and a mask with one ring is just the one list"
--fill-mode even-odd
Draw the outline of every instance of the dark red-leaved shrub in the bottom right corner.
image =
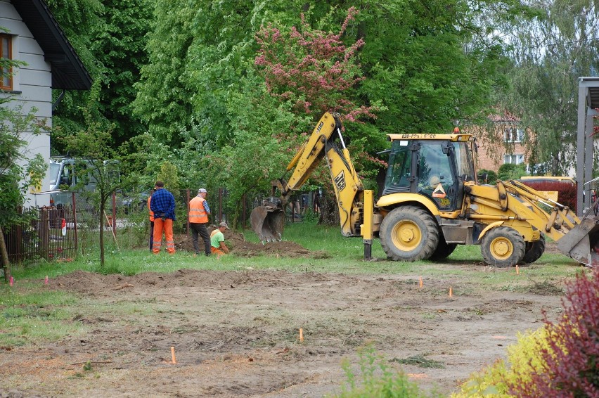
[[545, 316], [546, 346], [539, 346], [539, 372], [510, 383], [516, 397], [599, 397], [599, 269], [567, 283], [559, 323]]

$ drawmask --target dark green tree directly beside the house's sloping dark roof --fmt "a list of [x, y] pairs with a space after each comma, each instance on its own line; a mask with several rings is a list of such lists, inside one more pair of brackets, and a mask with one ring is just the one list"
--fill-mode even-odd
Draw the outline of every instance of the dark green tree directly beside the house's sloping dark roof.
[[[135, 84], [146, 63], [147, 33], [152, 26], [152, 3], [146, 0], [49, 0], [49, 7], [67, 38], [103, 90], [99, 105], [91, 115], [96, 121], [115, 124], [112, 140], [123, 143], [141, 134], [146, 127], [132, 111]], [[53, 124], [60, 129], [53, 135], [53, 151], [65, 150], [61, 136], [84, 128], [86, 120], [79, 110], [89, 98], [86, 91], [67, 91], [54, 112]], [[61, 96], [53, 92], [55, 100]]]

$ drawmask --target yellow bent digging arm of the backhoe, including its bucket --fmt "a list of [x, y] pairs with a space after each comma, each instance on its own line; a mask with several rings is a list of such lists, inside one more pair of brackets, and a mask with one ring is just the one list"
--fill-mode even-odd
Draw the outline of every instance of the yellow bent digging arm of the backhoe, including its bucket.
[[[287, 166], [292, 171], [287, 181], [271, 182], [273, 193], [262, 205], [252, 210], [252, 229], [260, 240], [280, 240], [285, 226], [285, 205], [290, 196], [305, 184], [314, 169], [326, 158], [335, 198], [340, 213], [342, 235], [359, 236], [363, 219], [363, 185], [356, 174], [342, 136], [342, 124], [337, 113], [325, 113], [309, 138], [302, 144]], [[278, 190], [281, 195], [275, 196]]]

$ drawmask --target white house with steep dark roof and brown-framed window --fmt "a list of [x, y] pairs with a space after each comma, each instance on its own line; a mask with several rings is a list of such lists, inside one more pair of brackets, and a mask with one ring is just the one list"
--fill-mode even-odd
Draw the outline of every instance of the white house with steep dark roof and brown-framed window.
[[[0, 0], [0, 55], [27, 65], [1, 79], [0, 96], [11, 96], [9, 106], [37, 108], [36, 116], [52, 125], [52, 90], [87, 90], [91, 77], [43, 0]], [[60, 96], [61, 97], [61, 96]], [[59, 98], [60, 98], [59, 97]], [[24, 154], [50, 160], [50, 136], [28, 134]], [[49, 186], [43, 181], [42, 191]], [[28, 195], [27, 205], [49, 205], [49, 195]]]

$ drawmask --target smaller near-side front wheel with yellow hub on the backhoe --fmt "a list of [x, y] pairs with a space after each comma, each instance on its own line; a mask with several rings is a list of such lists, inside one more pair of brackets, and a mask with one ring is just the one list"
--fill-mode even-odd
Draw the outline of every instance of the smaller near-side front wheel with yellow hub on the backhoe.
[[480, 251], [484, 262], [494, 267], [513, 267], [522, 261], [526, 244], [515, 229], [498, 226], [482, 238]]

